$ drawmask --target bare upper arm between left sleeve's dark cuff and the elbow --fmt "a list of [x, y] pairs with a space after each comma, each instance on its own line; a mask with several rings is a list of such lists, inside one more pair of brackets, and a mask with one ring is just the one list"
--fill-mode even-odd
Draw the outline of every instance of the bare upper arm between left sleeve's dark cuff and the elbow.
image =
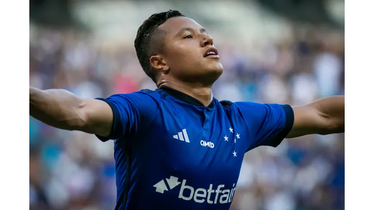
[[110, 134], [113, 111], [107, 102], [97, 99], [83, 99], [79, 114], [83, 118], [84, 125], [78, 130], [104, 137]]

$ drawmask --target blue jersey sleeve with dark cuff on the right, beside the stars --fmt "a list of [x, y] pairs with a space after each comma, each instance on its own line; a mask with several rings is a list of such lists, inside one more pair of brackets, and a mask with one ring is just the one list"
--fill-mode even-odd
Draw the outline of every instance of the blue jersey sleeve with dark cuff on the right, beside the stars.
[[247, 151], [258, 146], [276, 147], [294, 125], [294, 111], [290, 105], [236, 102], [250, 132]]

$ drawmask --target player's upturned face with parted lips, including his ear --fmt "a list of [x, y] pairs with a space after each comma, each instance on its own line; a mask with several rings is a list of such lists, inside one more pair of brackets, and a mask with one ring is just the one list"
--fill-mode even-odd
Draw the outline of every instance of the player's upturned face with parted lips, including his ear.
[[202, 26], [190, 18], [173, 17], [159, 28], [166, 32], [164, 48], [151, 63], [161, 70], [161, 79], [212, 84], [219, 78], [219, 53]]

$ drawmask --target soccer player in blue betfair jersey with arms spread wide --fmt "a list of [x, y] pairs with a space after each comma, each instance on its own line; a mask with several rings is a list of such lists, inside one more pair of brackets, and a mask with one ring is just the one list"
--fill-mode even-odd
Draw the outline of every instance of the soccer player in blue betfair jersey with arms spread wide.
[[213, 38], [178, 11], [147, 19], [135, 49], [158, 89], [97, 99], [29, 90], [32, 117], [114, 140], [115, 209], [229, 209], [247, 151], [344, 132], [344, 96], [299, 107], [215, 99], [223, 67]]

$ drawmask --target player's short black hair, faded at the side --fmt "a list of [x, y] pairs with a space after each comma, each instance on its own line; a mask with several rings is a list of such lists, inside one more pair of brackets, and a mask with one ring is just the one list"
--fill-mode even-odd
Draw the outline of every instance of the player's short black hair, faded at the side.
[[143, 24], [137, 29], [134, 46], [136, 56], [141, 64], [144, 72], [157, 83], [157, 70], [154, 69], [150, 63], [152, 56], [157, 55], [162, 51], [164, 33], [158, 28], [165, 23], [167, 19], [172, 17], [185, 17], [179, 11], [169, 10], [167, 12], [156, 13], [151, 15]]

